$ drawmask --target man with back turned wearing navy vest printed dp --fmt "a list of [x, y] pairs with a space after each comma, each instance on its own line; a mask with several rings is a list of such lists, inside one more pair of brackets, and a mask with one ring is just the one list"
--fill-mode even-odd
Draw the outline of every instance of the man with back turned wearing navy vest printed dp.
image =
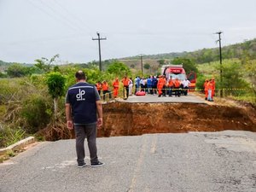
[[79, 168], [86, 166], [84, 162], [84, 139], [87, 137], [90, 151], [90, 166], [103, 166], [98, 160], [96, 148], [96, 127], [102, 126], [102, 102], [96, 86], [86, 83], [85, 74], [75, 74], [77, 84], [67, 90], [66, 118], [67, 128], [74, 128], [76, 151]]

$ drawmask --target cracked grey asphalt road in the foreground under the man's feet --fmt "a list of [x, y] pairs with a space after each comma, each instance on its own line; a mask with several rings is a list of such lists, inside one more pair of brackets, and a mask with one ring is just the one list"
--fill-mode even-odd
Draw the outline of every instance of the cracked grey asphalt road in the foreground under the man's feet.
[[39, 143], [0, 164], [0, 191], [256, 191], [253, 132], [108, 137], [97, 145], [106, 165], [78, 168], [74, 140]]

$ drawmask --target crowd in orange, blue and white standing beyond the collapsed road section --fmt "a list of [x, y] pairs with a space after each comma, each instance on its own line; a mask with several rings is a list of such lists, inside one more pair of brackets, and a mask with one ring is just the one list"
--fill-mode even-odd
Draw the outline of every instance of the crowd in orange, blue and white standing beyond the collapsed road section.
[[[116, 78], [113, 80], [113, 98], [117, 98], [119, 95], [119, 79]], [[127, 99], [128, 96], [132, 95], [133, 84], [135, 84], [134, 94], [138, 95], [140, 92], [144, 92], [144, 94], [152, 94], [160, 96], [188, 96], [188, 90], [190, 82], [188, 79], [179, 80], [179, 79], [166, 79], [165, 75], [160, 75], [158, 78], [155, 76], [149, 76], [148, 78], [140, 78], [136, 77], [134, 79], [134, 83], [128, 77], [124, 77], [121, 80], [121, 83], [124, 86], [124, 98]], [[204, 83], [204, 91], [205, 91], [205, 99], [209, 102], [213, 102], [213, 96], [215, 93], [215, 80], [206, 79]], [[109, 99], [112, 98], [112, 92], [109, 90], [109, 85], [106, 80], [98, 81], [96, 83], [96, 89], [101, 96], [103, 95], [103, 101], [106, 99], [106, 95], [109, 96]]]

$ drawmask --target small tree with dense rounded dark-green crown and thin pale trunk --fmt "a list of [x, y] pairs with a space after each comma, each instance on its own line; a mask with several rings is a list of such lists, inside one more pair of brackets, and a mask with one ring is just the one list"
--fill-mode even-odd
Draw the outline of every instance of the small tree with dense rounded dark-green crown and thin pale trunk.
[[48, 85], [49, 95], [52, 96], [54, 100], [55, 119], [57, 116], [58, 98], [65, 93], [65, 81], [65, 77], [59, 72], [52, 72], [47, 75], [46, 84]]

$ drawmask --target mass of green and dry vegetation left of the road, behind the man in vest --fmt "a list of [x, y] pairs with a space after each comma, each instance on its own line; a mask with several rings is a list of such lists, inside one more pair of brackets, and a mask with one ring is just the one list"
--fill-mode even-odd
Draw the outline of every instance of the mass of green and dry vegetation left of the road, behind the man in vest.
[[[119, 61], [108, 63], [107, 72], [100, 72], [96, 65], [40, 66], [33, 66], [40, 69], [37, 73], [8, 73], [9, 79], [0, 79], [0, 147], [28, 134], [43, 140], [72, 137], [66, 128], [64, 95], [67, 87], [75, 83], [74, 73], [81, 68], [90, 84], [107, 80], [111, 86], [113, 79], [131, 75], [130, 68]], [[22, 72], [30, 68], [11, 64], [9, 71]]]

